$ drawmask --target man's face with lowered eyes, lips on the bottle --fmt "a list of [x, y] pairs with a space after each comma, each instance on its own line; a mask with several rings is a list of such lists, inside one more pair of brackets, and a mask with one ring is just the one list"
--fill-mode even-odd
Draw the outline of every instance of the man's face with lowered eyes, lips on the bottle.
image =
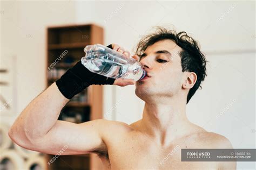
[[150, 77], [136, 82], [135, 93], [139, 98], [145, 101], [148, 97], [170, 97], [179, 93], [185, 81], [181, 51], [172, 40], [161, 40], [147, 47], [140, 63]]

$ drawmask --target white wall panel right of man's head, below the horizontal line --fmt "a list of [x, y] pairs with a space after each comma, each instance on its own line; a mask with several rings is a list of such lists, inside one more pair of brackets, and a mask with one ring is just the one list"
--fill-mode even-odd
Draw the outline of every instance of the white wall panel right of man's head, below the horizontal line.
[[[208, 76], [187, 106], [190, 121], [231, 140], [234, 148], [255, 148], [255, 53], [207, 55]], [[238, 162], [252, 168], [254, 162]]]

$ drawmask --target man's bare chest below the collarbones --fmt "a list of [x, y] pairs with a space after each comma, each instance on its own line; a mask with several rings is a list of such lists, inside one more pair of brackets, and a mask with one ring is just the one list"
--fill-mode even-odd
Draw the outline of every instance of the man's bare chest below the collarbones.
[[181, 148], [197, 147], [173, 143], [168, 147], [140, 139], [124, 139], [108, 146], [108, 158], [102, 158], [106, 169], [217, 169], [216, 162], [181, 162]]

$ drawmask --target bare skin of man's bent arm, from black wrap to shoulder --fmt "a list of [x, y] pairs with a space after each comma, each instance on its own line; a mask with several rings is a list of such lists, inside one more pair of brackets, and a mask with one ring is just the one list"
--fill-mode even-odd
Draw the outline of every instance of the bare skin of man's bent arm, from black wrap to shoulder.
[[63, 154], [88, 153], [104, 147], [98, 130], [103, 120], [81, 124], [57, 121], [68, 101], [53, 83], [21, 112], [9, 130], [10, 138], [24, 148], [49, 154], [57, 154], [63, 147]]

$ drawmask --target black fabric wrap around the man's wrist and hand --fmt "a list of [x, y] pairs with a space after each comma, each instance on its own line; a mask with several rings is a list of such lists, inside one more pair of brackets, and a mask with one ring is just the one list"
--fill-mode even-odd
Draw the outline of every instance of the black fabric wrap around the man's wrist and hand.
[[[111, 45], [107, 47], [112, 48]], [[66, 73], [56, 81], [56, 85], [63, 96], [71, 99], [92, 84], [113, 84], [114, 80], [116, 79], [92, 73], [82, 65], [81, 61], [78, 61], [75, 66], [68, 69]]]

